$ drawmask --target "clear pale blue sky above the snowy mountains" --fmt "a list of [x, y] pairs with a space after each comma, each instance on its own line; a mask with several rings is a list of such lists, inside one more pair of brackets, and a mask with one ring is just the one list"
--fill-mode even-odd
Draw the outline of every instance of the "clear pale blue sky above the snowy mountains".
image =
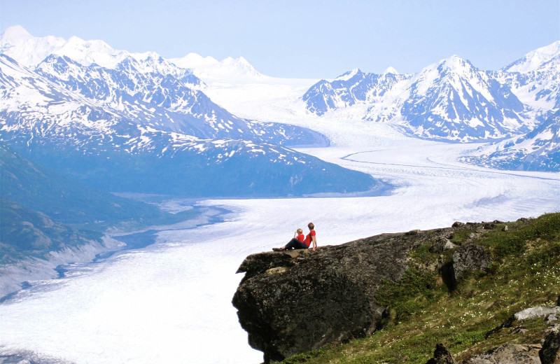
[[113, 48], [243, 56], [269, 76], [417, 72], [459, 55], [498, 69], [560, 39], [559, 0], [0, 0], [0, 30]]

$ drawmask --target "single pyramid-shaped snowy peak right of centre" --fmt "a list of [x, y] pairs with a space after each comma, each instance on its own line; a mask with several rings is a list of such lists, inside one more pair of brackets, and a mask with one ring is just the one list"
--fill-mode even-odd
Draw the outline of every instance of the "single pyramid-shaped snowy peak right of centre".
[[[528, 131], [510, 87], [456, 55], [416, 74], [399, 96], [400, 118], [420, 137], [470, 141]], [[379, 115], [373, 105], [366, 118]]]

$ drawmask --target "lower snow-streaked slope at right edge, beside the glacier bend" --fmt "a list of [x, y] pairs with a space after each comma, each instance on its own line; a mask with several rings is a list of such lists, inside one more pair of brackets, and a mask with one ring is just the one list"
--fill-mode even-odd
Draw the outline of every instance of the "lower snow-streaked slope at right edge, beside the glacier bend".
[[479, 147], [462, 160], [500, 169], [560, 172], [560, 114], [521, 137]]

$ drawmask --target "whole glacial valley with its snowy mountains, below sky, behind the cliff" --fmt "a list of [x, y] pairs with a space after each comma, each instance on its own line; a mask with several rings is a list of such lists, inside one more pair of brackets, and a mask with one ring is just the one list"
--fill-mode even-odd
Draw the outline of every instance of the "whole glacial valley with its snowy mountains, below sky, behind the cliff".
[[558, 41], [322, 80], [22, 27], [0, 51], [0, 360], [260, 363], [235, 271], [296, 228], [336, 246], [560, 211]]

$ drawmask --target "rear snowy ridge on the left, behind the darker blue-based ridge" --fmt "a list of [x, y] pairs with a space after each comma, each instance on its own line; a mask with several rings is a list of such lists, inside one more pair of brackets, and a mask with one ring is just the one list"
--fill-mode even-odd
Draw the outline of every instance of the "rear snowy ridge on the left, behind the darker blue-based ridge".
[[[41, 62], [31, 63], [27, 55], [38, 44], [45, 45], [41, 49], [50, 54]], [[113, 50], [103, 41], [83, 41], [77, 37], [68, 41], [33, 37], [22, 27], [6, 30], [1, 49], [6, 55], [17, 55], [53, 83], [141, 125], [200, 138], [286, 145], [328, 143], [320, 134], [300, 127], [256, 123], [233, 116], [200, 91], [202, 81], [190, 69], [176, 66], [154, 52]], [[233, 59], [230, 61], [237, 64]]]

